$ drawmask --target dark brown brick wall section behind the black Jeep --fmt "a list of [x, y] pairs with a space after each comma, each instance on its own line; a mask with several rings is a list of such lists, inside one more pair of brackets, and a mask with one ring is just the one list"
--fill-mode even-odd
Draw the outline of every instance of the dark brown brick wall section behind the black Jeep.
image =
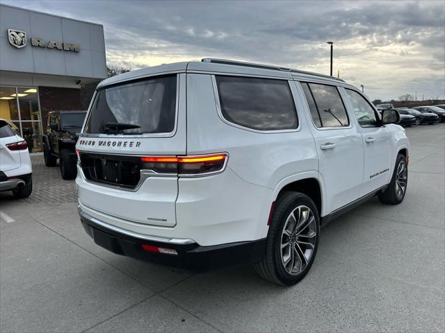
[[47, 126], [47, 114], [56, 110], [83, 110], [80, 89], [39, 87], [42, 123]]

